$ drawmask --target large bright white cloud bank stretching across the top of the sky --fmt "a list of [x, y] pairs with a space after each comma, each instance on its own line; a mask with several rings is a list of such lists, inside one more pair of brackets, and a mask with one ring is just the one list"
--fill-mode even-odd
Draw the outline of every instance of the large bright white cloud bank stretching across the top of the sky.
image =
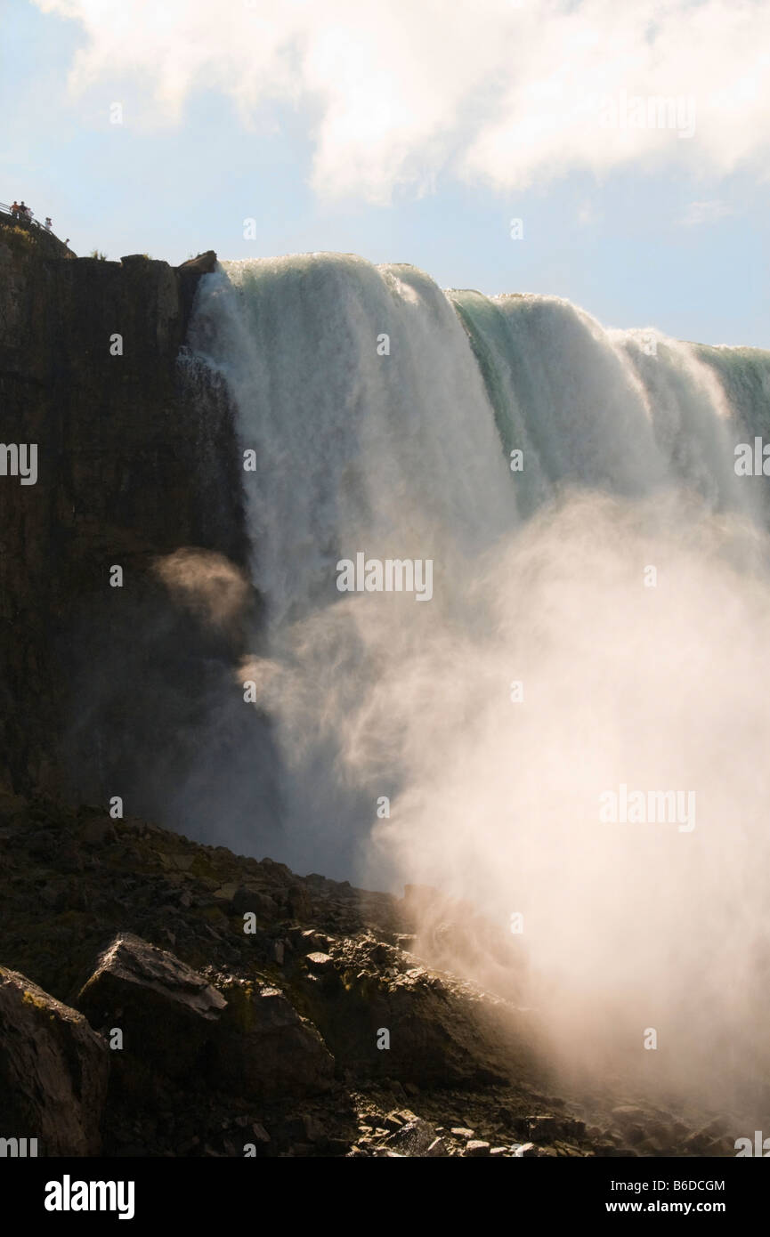
[[[156, 122], [201, 87], [244, 121], [307, 108], [323, 194], [387, 200], [442, 171], [504, 190], [631, 165], [764, 174], [770, 151], [766, 0], [35, 2], [84, 28], [74, 90], [135, 75]], [[652, 96], [694, 101], [687, 141], [602, 122], [608, 100]]]

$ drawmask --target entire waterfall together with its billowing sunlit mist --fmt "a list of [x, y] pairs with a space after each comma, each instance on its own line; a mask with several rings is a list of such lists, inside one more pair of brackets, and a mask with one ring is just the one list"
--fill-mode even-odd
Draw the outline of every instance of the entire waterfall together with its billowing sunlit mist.
[[[256, 453], [275, 857], [522, 913], [555, 1019], [592, 1008], [634, 1050], [656, 1027], [680, 1064], [754, 1053], [770, 578], [763, 479], [733, 453], [765, 423], [766, 354], [339, 255], [225, 263], [193, 343]], [[358, 552], [431, 559], [430, 602], [339, 593]], [[602, 823], [620, 784], [694, 793], [694, 828]]]

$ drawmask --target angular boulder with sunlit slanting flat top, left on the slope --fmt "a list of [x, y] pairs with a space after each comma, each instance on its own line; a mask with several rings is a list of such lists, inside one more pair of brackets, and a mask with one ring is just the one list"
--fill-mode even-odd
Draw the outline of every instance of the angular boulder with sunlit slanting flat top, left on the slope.
[[125, 1049], [170, 1077], [196, 1063], [225, 1004], [202, 975], [130, 933], [100, 955], [77, 999], [94, 1025], [120, 1027]]

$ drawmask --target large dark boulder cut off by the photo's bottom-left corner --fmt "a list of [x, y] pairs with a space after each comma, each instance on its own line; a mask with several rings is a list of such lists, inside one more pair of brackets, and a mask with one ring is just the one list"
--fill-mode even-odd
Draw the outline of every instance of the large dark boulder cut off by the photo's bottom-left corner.
[[85, 1018], [0, 966], [0, 1131], [38, 1155], [98, 1155], [109, 1049]]

